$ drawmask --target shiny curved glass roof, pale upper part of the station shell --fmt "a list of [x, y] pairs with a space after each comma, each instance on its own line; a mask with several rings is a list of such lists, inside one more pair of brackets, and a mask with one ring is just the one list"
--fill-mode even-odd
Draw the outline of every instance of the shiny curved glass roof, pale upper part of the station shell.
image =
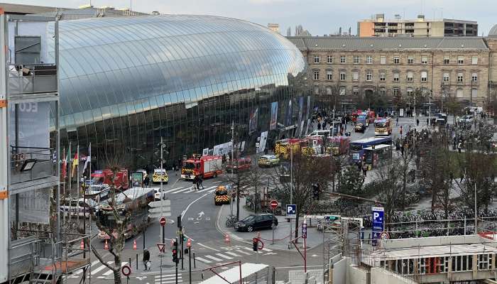
[[60, 122], [67, 129], [239, 89], [288, 85], [305, 70], [289, 40], [234, 18], [88, 18], [60, 21], [59, 33]]

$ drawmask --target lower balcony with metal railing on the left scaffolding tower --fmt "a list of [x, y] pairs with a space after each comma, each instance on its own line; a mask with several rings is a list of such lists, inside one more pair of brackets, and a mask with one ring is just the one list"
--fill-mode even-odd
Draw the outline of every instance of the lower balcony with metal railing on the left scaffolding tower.
[[[11, 153], [12, 184], [57, 176], [57, 163], [54, 161], [53, 148], [11, 146]], [[27, 163], [30, 161], [35, 164], [31, 170], [26, 170]]]

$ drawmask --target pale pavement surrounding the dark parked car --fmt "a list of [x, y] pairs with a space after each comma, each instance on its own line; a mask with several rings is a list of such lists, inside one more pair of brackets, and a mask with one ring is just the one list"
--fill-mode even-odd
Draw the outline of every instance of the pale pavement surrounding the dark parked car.
[[[245, 198], [240, 199], [240, 219], [244, 219], [245, 217], [253, 214], [244, 207]], [[236, 204], [234, 204], [233, 208], [234, 214], [236, 214]], [[279, 249], [279, 250], [288, 250], [289, 239], [290, 239], [290, 223], [286, 221], [285, 216], [276, 216], [278, 218], [278, 227], [274, 230], [274, 244], [273, 242], [273, 230], [264, 229], [261, 231], [253, 231], [251, 233], [245, 231], [235, 231], [234, 228], [226, 227], [226, 217], [229, 216], [230, 209], [229, 205], [223, 205], [218, 214], [217, 219], [217, 229], [221, 231], [223, 234], [229, 234], [231, 239], [236, 241], [243, 241], [247, 244], [252, 244], [252, 239], [256, 237], [259, 233], [261, 234], [261, 239], [264, 243], [264, 246], [268, 249]], [[258, 212], [262, 213], [262, 212]], [[299, 223], [299, 236], [302, 231], [302, 222], [303, 217], [300, 217]], [[310, 226], [310, 222], [307, 222], [307, 248], [312, 249], [315, 246], [319, 246], [322, 244], [322, 233], [317, 231], [315, 220], [312, 220], [312, 227]], [[292, 222], [292, 239], [295, 237], [295, 221]], [[302, 247], [302, 239], [298, 240], [299, 248]], [[294, 246], [290, 245], [291, 249], [295, 249]]]

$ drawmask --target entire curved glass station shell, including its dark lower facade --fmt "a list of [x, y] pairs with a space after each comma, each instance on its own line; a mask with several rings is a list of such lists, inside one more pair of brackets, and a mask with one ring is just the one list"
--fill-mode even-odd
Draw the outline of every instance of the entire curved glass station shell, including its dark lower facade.
[[60, 21], [59, 33], [60, 137], [73, 153], [79, 144], [87, 155], [91, 143], [101, 160], [106, 148], [119, 148], [131, 168], [151, 168], [161, 136], [170, 165], [229, 142], [231, 121], [253, 148], [275, 118], [274, 102], [269, 138], [307, 122], [305, 60], [263, 26], [141, 16]]

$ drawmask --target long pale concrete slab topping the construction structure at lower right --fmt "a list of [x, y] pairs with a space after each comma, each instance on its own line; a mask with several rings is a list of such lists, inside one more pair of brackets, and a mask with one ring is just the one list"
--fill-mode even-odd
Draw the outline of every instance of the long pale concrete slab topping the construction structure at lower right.
[[[479, 235], [468, 236], [432, 236], [428, 238], [416, 239], [390, 239], [382, 240], [381, 248], [383, 249], [405, 249], [413, 246], [440, 246], [449, 244], [481, 244], [492, 242], [489, 239], [482, 238]], [[497, 242], [493, 242], [497, 246]], [[488, 244], [493, 246], [493, 244]]]

